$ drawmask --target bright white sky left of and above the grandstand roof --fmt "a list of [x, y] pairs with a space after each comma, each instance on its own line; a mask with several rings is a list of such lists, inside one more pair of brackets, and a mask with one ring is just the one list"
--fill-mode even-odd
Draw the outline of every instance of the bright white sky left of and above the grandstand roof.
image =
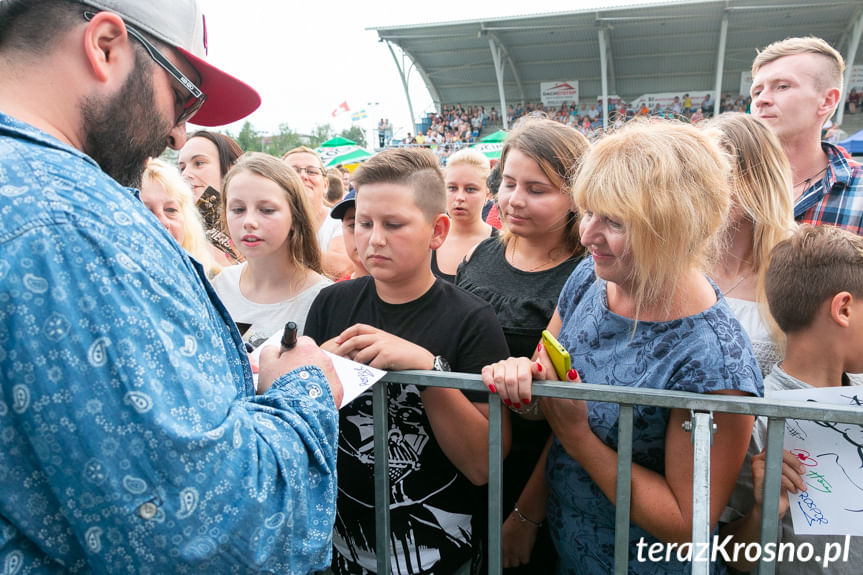
[[[386, 117], [396, 137], [412, 132], [404, 89], [393, 57], [367, 28], [474, 20], [527, 13], [566, 12], [633, 0], [199, 0], [207, 21], [208, 60], [255, 88], [261, 107], [247, 119], [258, 131], [274, 133], [287, 123], [310, 133], [329, 123], [336, 132], [351, 127], [351, 114], [333, 117], [347, 102], [365, 109], [361, 126], [370, 130]], [[526, 10], [525, 6], [532, 6]], [[401, 60], [401, 53], [396, 48]], [[406, 60], [410, 67], [410, 60]], [[432, 111], [419, 73], [409, 75], [414, 112]], [[236, 135], [242, 122], [220, 129]], [[191, 129], [191, 128], [190, 128]]]

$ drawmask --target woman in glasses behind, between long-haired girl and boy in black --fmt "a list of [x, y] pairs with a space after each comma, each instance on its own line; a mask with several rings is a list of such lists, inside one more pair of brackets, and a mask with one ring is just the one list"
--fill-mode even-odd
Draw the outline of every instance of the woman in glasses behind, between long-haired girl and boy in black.
[[329, 217], [330, 208], [324, 202], [329, 181], [321, 157], [311, 148], [300, 146], [289, 150], [282, 159], [303, 181], [315, 225], [315, 235], [321, 248], [324, 274], [331, 279], [349, 275], [353, 271], [353, 264], [345, 252], [345, 244], [341, 238], [341, 222]]

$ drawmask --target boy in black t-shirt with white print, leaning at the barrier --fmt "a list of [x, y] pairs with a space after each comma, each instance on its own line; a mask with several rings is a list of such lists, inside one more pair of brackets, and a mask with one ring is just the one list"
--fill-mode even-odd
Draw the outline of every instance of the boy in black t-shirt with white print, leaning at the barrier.
[[[357, 250], [371, 275], [322, 290], [305, 334], [328, 351], [385, 370], [451, 366], [479, 373], [506, 357], [491, 306], [432, 275], [431, 252], [449, 230], [434, 153], [380, 152], [357, 169], [354, 184]], [[469, 573], [472, 539], [485, 535], [472, 530], [471, 516], [483, 497], [475, 486], [488, 481], [487, 402], [485, 393], [389, 386], [392, 573]], [[333, 570], [373, 573], [370, 392], [341, 409], [339, 426]], [[480, 525], [483, 519], [477, 517]]]

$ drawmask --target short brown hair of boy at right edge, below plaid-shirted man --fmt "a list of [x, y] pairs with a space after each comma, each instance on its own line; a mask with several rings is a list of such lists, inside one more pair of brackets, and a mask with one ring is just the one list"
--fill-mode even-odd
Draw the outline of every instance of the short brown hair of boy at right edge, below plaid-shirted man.
[[770, 252], [764, 287], [782, 331], [806, 329], [837, 293], [863, 297], [863, 237], [835, 226], [801, 225]]

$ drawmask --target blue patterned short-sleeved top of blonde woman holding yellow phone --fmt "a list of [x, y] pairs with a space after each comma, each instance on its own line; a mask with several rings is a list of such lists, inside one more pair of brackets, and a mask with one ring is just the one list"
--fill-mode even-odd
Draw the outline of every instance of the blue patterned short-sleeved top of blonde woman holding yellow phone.
[[[714, 285], [714, 289], [716, 286]], [[583, 381], [707, 393], [736, 389], [763, 395], [758, 363], [743, 328], [716, 290], [710, 309], [670, 322], [633, 320], [608, 309], [606, 282], [596, 278], [593, 258], [583, 260], [560, 293], [563, 320], [558, 339]], [[665, 471], [667, 409], [634, 406], [632, 460]], [[618, 405], [588, 402], [593, 432], [617, 449]], [[548, 522], [560, 554], [560, 573], [614, 570], [614, 506], [555, 439], [548, 456]], [[634, 523], [629, 527], [629, 572], [686, 573], [689, 565], [639, 563], [636, 544], [658, 541]]]

